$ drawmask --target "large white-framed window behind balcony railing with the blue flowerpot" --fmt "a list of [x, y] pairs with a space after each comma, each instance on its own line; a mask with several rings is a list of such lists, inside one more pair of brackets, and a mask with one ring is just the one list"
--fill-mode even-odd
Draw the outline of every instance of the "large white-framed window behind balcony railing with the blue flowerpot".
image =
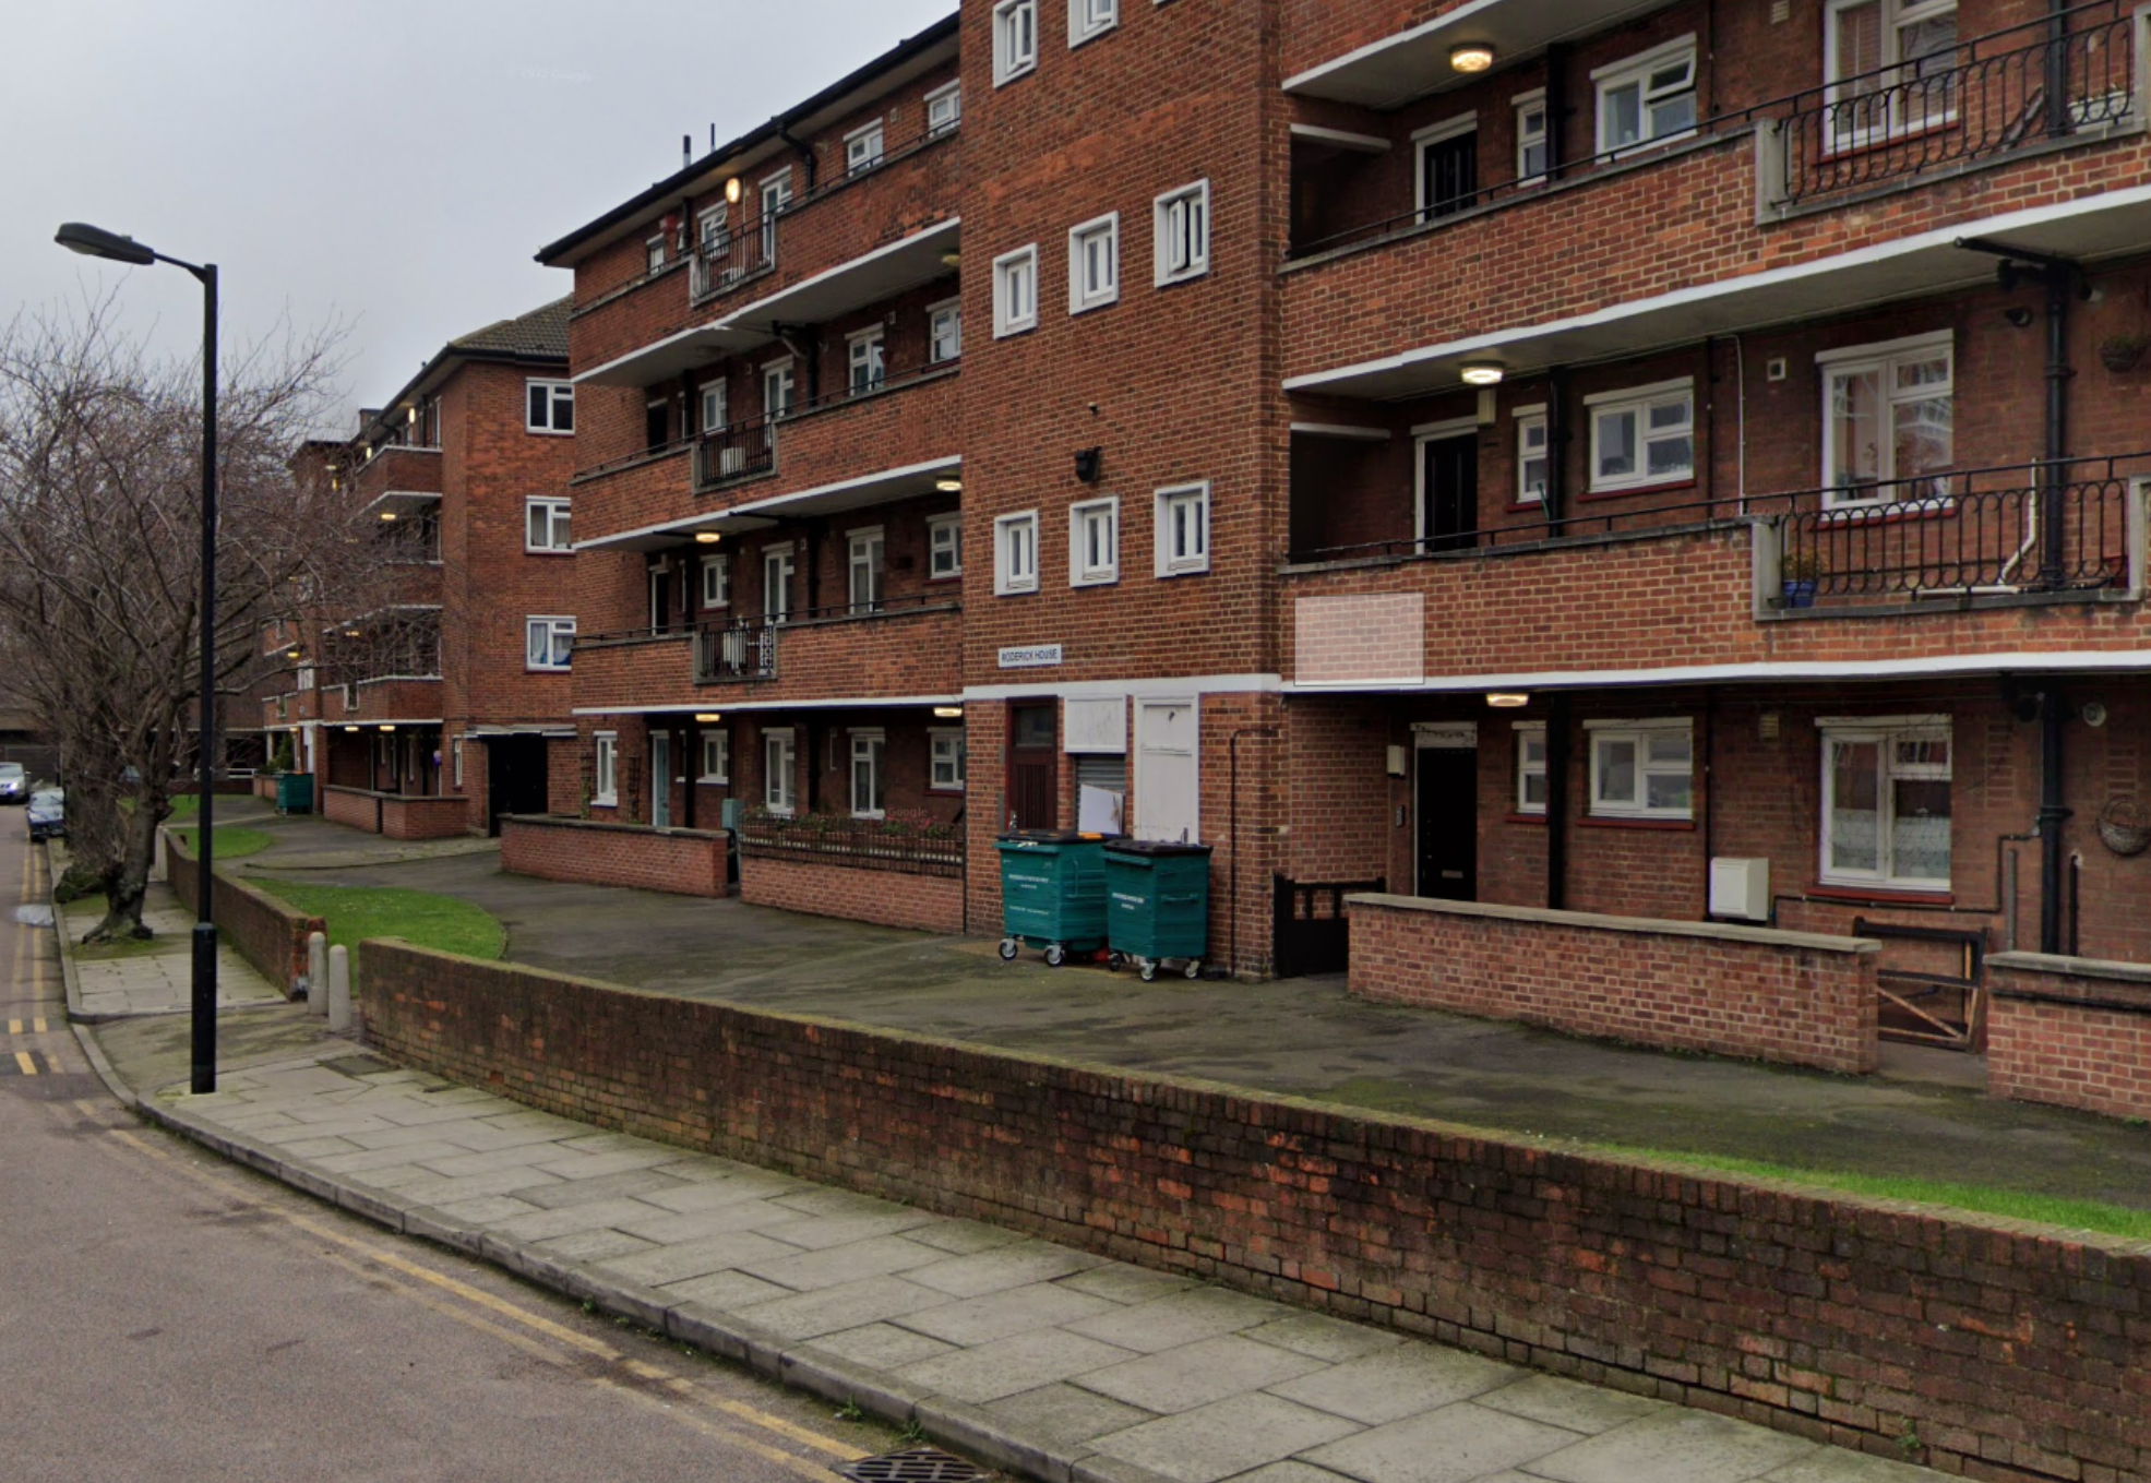
[[1815, 364], [1822, 366], [1822, 482], [1828, 504], [1938, 495], [1942, 480], [1925, 476], [1955, 461], [1949, 331], [1824, 351]]

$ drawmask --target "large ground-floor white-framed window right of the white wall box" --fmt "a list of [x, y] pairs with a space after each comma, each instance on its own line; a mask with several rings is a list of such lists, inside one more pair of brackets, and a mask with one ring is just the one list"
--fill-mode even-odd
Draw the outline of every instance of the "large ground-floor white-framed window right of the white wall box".
[[1949, 717], [1818, 721], [1822, 878], [1949, 889]]

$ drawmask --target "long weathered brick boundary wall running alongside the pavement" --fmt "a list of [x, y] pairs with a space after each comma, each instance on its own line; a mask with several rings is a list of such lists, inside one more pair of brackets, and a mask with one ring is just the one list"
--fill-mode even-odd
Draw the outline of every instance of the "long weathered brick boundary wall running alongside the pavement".
[[1947, 1472], [2151, 1479], [2151, 1242], [361, 951], [370, 1044], [566, 1117]]

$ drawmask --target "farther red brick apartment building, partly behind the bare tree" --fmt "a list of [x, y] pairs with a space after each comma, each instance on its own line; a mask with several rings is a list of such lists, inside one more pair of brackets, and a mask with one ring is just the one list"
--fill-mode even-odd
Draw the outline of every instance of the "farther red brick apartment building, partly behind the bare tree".
[[[574, 751], [574, 387], [568, 301], [458, 340], [301, 463], [379, 517], [364, 611], [271, 624], [290, 734], [329, 818], [407, 839], [497, 833], [503, 814], [568, 809], [553, 751]], [[312, 628], [312, 633], [308, 633]]]

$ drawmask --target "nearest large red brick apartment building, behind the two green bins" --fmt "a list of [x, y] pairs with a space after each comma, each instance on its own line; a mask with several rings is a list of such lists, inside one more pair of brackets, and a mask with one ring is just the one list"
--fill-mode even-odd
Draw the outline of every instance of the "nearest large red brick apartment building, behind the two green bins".
[[1353, 889], [1374, 994], [2140, 1033], [2145, 118], [2121, 0], [964, 0], [540, 254], [641, 555], [555, 794], [998, 932], [1093, 783], [1237, 973]]

